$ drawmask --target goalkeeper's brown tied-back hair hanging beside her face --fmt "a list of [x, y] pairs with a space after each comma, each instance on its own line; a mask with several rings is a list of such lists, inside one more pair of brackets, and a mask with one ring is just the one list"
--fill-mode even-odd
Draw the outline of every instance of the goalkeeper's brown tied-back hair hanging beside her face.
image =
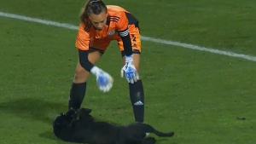
[[101, 14], [103, 10], [107, 13], [107, 6], [102, 0], [88, 0], [82, 9], [80, 20], [84, 23], [89, 19], [88, 14]]

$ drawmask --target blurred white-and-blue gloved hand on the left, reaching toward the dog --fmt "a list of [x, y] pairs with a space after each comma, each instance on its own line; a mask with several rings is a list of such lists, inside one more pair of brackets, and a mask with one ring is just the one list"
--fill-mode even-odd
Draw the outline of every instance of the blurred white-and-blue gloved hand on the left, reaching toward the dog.
[[103, 92], [108, 92], [113, 86], [113, 78], [107, 73], [102, 71], [97, 66], [93, 66], [90, 70], [96, 76], [96, 83], [98, 88]]

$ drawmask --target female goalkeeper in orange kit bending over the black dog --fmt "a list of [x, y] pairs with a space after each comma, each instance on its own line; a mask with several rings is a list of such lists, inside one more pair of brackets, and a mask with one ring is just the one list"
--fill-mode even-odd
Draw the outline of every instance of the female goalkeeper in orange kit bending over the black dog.
[[79, 61], [70, 90], [68, 108], [81, 107], [90, 73], [96, 77], [98, 88], [102, 92], [108, 92], [112, 88], [113, 78], [95, 64], [108, 48], [108, 44], [116, 40], [124, 64], [121, 77], [125, 77], [129, 84], [135, 121], [143, 123], [143, 82], [138, 75], [141, 53], [138, 20], [125, 9], [106, 6], [101, 0], [89, 0], [82, 9], [80, 20], [75, 43], [79, 50]]

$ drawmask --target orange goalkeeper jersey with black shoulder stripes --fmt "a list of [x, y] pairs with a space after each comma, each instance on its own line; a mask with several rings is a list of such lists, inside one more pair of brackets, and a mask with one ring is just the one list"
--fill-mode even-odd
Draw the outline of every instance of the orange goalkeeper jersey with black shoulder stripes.
[[106, 40], [117, 40], [120, 35], [127, 35], [129, 31], [125, 31], [128, 25], [136, 24], [138, 21], [134, 18], [127, 10], [115, 6], [108, 5], [108, 20], [107, 25], [98, 31], [94, 28], [90, 20], [80, 24], [79, 32], [76, 37], [75, 46], [81, 50], [88, 50], [90, 40], [94, 39], [106, 39]]

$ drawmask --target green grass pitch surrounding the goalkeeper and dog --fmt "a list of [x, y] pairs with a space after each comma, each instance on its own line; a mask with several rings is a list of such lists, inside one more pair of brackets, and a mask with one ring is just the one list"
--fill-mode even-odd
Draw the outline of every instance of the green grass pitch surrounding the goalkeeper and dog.
[[[107, 1], [136, 15], [143, 36], [256, 55], [256, 2], [246, 2]], [[2, 0], [0, 11], [78, 25], [84, 1], [14, 3]], [[52, 134], [51, 120], [67, 109], [77, 62], [77, 32], [3, 17], [0, 32], [0, 142], [66, 143]], [[113, 89], [102, 94], [95, 78], [90, 77], [83, 106], [92, 108], [96, 118], [130, 123], [133, 115], [128, 85], [119, 78], [121, 59], [115, 42], [97, 66], [113, 75]], [[143, 42], [140, 75], [145, 89], [146, 123], [176, 132], [171, 139], [157, 138], [159, 144], [256, 142], [255, 62]]]

